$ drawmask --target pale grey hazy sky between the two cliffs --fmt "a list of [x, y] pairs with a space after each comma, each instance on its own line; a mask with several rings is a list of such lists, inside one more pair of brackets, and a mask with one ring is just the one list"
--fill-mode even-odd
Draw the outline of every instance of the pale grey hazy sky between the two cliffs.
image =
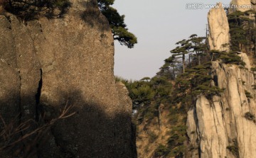
[[[114, 74], [125, 79], [154, 77], [178, 40], [206, 34], [209, 9], [186, 9], [186, 4], [216, 4], [215, 0], [115, 0], [138, 44], [128, 49], [115, 42]], [[229, 4], [230, 0], [222, 0]]]

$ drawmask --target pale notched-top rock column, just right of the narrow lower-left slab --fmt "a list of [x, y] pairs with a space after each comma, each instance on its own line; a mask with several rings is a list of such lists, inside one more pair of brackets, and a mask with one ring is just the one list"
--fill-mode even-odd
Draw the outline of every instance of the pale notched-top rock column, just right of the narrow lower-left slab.
[[210, 105], [205, 96], [199, 96], [196, 103], [198, 129], [201, 137], [201, 157], [225, 157], [228, 138], [224, 123], [219, 119], [222, 108], [217, 102]]

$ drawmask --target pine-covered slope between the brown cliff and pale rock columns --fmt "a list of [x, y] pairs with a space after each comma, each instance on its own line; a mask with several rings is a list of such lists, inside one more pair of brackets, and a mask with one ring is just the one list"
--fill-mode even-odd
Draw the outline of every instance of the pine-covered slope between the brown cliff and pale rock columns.
[[[137, 142], [144, 147], [144, 150], [139, 147], [138, 152], [144, 157], [184, 157], [188, 150], [184, 145], [187, 111], [196, 105], [198, 96], [211, 99], [224, 90], [218, 87], [212, 62], [218, 60], [245, 68], [245, 62], [236, 51], [208, 50], [205, 37], [193, 34], [176, 45], [178, 47], [171, 50], [171, 56], [164, 60], [155, 77], [144, 77], [140, 81], [119, 79], [127, 86], [133, 108], [138, 111], [133, 120], [137, 125]], [[250, 97], [248, 93], [247, 97]], [[162, 126], [169, 126], [169, 130], [164, 131], [166, 128]], [[148, 145], [143, 146], [146, 141]], [[227, 149], [237, 154], [235, 147]]]

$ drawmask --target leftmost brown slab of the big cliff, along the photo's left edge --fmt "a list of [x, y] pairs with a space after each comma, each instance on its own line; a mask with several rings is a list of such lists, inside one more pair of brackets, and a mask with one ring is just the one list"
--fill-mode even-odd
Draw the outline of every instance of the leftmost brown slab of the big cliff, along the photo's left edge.
[[19, 113], [21, 82], [9, 19], [0, 16], [0, 21], [0, 114], [6, 123], [10, 123], [11, 120], [8, 118], [16, 118]]

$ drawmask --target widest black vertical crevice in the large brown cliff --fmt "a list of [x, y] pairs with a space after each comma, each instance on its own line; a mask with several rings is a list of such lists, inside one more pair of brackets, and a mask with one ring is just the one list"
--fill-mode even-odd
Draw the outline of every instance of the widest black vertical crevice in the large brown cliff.
[[41, 97], [41, 89], [43, 86], [43, 69], [40, 69], [40, 80], [38, 82], [38, 90], [36, 93], [36, 121], [39, 121], [40, 118], [40, 97]]

